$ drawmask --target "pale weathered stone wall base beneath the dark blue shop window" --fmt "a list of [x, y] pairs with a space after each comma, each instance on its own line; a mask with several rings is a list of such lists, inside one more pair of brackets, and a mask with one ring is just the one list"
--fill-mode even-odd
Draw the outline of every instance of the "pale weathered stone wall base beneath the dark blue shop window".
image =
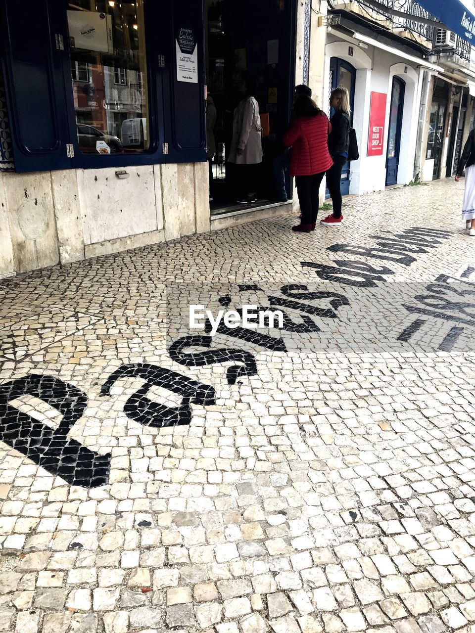
[[210, 230], [207, 163], [0, 172], [0, 277]]

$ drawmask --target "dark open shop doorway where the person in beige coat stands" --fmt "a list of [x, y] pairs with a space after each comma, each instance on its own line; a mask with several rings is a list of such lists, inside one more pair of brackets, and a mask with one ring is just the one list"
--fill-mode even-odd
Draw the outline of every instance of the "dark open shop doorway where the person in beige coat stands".
[[[213, 128], [216, 152], [210, 161], [212, 215], [275, 203], [278, 197], [272, 164], [282, 153], [295, 87], [295, 0], [205, 0], [206, 88], [216, 109]], [[239, 166], [227, 162], [233, 112], [243, 79], [257, 84], [255, 97], [263, 128], [263, 161], [258, 201], [238, 204]], [[209, 134], [209, 133], [208, 133]], [[208, 146], [210, 139], [208, 139]], [[209, 159], [208, 154], [208, 159]], [[287, 196], [291, 182], [286, 176]]]

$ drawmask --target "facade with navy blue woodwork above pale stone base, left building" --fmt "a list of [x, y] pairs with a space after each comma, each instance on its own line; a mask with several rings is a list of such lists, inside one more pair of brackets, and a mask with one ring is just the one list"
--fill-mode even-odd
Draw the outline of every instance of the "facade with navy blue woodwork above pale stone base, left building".
[[[275, 130], [295, 84], [322, 92], [326, 2], [0, 0], [0, 13], [0, 277], [279, 211]], [[244, 77], [270, 125], [252, 209], [230, 201], [225, 163]]]

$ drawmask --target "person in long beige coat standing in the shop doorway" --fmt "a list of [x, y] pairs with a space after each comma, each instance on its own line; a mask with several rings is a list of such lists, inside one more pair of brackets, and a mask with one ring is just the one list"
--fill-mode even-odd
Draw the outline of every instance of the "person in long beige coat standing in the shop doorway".
[[228, 162], [236, 165], [236, 179], [244, 194], [238, 197], [238, 203], [253, 204], [257, 201], [259, 166], [263, 156], [262, 128], [259, 106], [254, 96], [255, 85], [245, 80], [241, 82], [239, 92], [243, 98], [234, 110]]

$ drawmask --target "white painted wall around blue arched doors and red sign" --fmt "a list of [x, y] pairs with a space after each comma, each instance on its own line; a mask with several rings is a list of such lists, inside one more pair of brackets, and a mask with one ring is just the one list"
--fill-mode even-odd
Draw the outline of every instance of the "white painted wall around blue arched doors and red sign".
[[[350, 46], [353, 48], [352, 56], [349, 54]], [[386, 186], [388, 123], [391, 88], [395, 76], [402, 78], [406, 84], [397, 182], [408, 184], [414, 176], [417, 118], [421, 101], [421, 82], [417, 65], [373, 46], [362, 49], [357, 44], [339, 40], [334, 35], [328, 36], [325, 54], [326, 93], [329, 91], [332, 57], [339, 57], [357, 69], [353, 127], [357, 132], [360, 159], [352, 162], [350, 194], [382, 191]], [[383, 92], [387, 95], [382, 156], [367, 156], [371, 92]]]

